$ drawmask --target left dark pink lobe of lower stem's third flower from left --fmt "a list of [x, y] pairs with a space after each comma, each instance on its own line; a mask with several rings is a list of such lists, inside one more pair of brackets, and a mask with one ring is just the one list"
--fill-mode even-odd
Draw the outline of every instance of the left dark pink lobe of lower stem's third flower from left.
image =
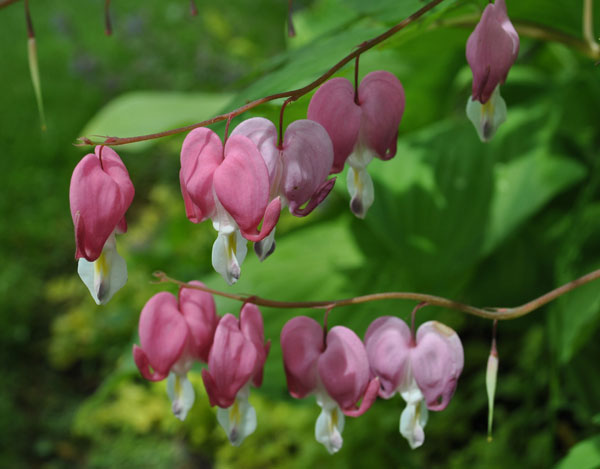
[[280, 343], [288, 389], [302, 399], [317, 387], [317, 360], [325, 348], [323, 328], [312, 318], [297, 316], [283, 326]]

